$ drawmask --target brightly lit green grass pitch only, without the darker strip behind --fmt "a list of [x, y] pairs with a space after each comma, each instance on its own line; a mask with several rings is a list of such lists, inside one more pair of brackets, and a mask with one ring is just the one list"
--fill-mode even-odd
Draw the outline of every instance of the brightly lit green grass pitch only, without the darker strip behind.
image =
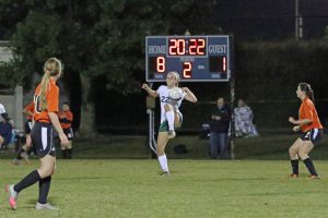
[[[328, 162], [315, 161], [320, 180], [289, 179], [288, 160], [58, 160], [49, 202], [58, 211], [37, 211], [37, 185], [24, 190], [17, 210], [0, 194], [0, 217], [326, 217]], [[0, 160], [0, 184], [17, 182], [38, 166]]]

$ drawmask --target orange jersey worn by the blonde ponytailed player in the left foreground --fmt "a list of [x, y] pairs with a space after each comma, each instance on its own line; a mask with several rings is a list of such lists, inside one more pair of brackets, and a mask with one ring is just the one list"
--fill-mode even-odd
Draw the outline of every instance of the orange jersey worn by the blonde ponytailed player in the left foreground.
[[48, 112], [58, 112], [58, 98], [59, 98], [59, 88], [56, 85], [54, 80], [50, 80], [48, 85], [48, 92], [46, 93], [46, 100], [47, 100], [47, 110], [42, 110], [39, 106], [39, 94], [40, 94], [40, 84], [35, 89], [34, 95], [34, 104], [35, 104], [35, 113], [34, 120], [39, 122], [47, 122], [50, 123], [50, 118]]

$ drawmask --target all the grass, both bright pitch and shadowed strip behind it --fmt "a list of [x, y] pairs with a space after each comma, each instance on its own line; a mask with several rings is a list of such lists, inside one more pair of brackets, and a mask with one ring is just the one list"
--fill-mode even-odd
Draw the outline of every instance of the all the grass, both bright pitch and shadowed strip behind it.
[[[288, 148], [294, 140], [294, 135], [241, 138], [235, 142], [237, 160], [209, 160], [208, 141], [178, 136], [167, 147], [168, 177], [159, 175], [159, 164], [150, 159], [144, 136], [77, 140], [77, 159], [58, 159], [52, 179], [49, 202], [60, 210], [34, 209], [35, 184], [20, 194], [15, 211], [9, 209], [7, 193], [0, 192], [0, 218], [326, 217], [327, 142], [312, 154], [320, 180], [306, 180], [302, 162], [301, 178], [289, 179]], [[175, 144], [185, 144], [188, 154], [174, 154]], [[0, 153], [2, 187], [38, 167], [35, 158], [30, 166], [13, 166], [13, 155]]]

